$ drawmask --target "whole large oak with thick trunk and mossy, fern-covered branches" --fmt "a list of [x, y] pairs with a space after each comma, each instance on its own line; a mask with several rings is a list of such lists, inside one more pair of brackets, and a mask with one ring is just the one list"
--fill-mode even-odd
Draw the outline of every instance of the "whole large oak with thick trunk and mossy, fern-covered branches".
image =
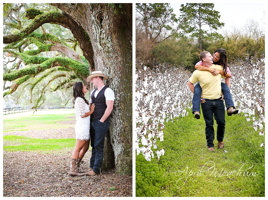
[[[63, 12], [36, 11], [34, 15], [29, 15], [33, 19], [29, 24], [17, 32], [4, 36], [3, 41], [7, 44], [6, 46], [16, 43], [18, 50], [24, 50], [23, 47], [29, 40], [26, 37], [33, 38], [31, 41], [34, 41], [33, 44], [36, 46], [31, 49], [31, 54], [25, 56], [29, 60], [28, 63], [34, 60], [35, 65], [23, 66], [21, 69], [20, 67], [15, 69], [15, 67], [14, 72], [4, 75], [4, 79], [7, 80], [7, 77], [10, 77], [10, 81], [24, 81], [23, 79], [33, 76], [38, 80], [39, 72], [48, 73], [46, 70], [53, 70], [55, 66], [74, 71], [75, 75], [82, 77], [82, 80], [84, 75], [86, 77], [90, 74], [92, 68], [102, 70], [109, 76], [106, 85], [109, 85], [115, 93], [110, 129], [105, 137], [105, 159], [102, 169], [115, 167], [116, 173], [131, 175], [132, 106], [129, 105], [132, 105], [132, 3], [51, 3], [51, 5]], [[35, 56], [42, 51], [47, 51], [51, 46], [56, 46], [56, 41], [59, 45], [65, 45], [63, 41], [58, 41], [54, 37], [51, 39], [47, 32], [41, 35], [34, 33], [44, 23], [60, 24], [70, 29], [85, 59], [83, 60], [81, 56], [81, 60], [74, 59], [77, 57], [76, 54], [70, 54], [70, 58], [66, 58], [66, 55], [41, 59], [39, 59], [40, 56]], [[40, 44], [43, 42], [44, 44]], [[35, 54], [34, 51], [35, 53], [40, 51], [40, 53]], [[22, 55], [21, 52], [15, 50], [12, 53]], [[25, 54], [25, 51], [22, 53]], [[23, 56], [21, 58], [25, 60]], [[85, 84], [87, 84], [86, 81]]]

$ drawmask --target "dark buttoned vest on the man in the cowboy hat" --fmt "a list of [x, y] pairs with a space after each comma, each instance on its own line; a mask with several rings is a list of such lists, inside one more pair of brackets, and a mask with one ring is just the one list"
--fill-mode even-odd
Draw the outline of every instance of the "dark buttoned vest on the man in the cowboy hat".
[[97, 89], [95, 89], [93, 92], [92, 92], [92, 95], [91, 95], [91, 100], [92, 100], [92, 103], [95, 104], [95, 109], [93, 111], [93, 117], [95, 119], [101, 119], [102, 116], [104, 115], [105, 113], [105, 110], [107, 108], [107, 105], [106, 105], [106, 99], [105, 99], [105, 96], [104, 96], [104, 92], [105, 92], [105, 89], [108, 88], [106, 85], [101, 89], [101, 91], [99, 91], [99, 93], [97, 94], [97, 97], [95, 98], [94, 94], [95, 92], [97, 91]]

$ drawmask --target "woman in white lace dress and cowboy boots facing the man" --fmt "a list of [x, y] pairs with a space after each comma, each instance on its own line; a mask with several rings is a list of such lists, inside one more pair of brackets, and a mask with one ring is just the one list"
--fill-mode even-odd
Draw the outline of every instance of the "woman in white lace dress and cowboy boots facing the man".
[[74, 126], [76, 143], [70, 164], [70, 176], [82, 176], [82, 174], [78, 173], [78, 170], [81, 160], [89, 148], [90, 115], [93, 113], [95, 105], [92, 104], [89, 110], [89, 103], [87, 99], [85, 99], [86, 93], [87, 87], [82, 82], [77, 82], [74, 84], [73, 107], [75, 110], [76, 119], [76, 124]]

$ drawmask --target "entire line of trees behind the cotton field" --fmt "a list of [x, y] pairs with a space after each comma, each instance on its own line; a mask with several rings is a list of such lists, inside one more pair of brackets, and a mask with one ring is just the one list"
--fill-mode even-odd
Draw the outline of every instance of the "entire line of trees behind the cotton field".
[[[204, 50], [212, 54], [225, 49], [228, 63], [265, 53], [265, 33], [257, 21], [247, 19], [242, 27], [221, 35], [216, 31], [224, 23], [213, 7], [213, 3], [182, 4], [176, 18], [169, 3], [137, 3], [136, 58], [145, 60], [148, 67], [155, 62], [172, 63], [193, 71]], [[210, 31], [205, 30], [208, 25]]]

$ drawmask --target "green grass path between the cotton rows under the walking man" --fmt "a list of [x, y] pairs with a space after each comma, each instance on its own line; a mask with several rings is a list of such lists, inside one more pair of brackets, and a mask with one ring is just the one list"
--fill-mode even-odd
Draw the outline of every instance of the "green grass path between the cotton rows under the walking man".
[[160, 160], [155, 153], [151, 161], [136, 155], [136, 196], [265, 196], [265, 139], [250, 124], [244, 116], [226, 115], [224, 153], [216, 134], [215, 151], [208, 151], [202, 113], [199, 120], [190, 113], [169, 121], [157, 143], [165, 150]]

